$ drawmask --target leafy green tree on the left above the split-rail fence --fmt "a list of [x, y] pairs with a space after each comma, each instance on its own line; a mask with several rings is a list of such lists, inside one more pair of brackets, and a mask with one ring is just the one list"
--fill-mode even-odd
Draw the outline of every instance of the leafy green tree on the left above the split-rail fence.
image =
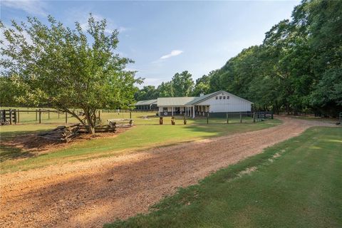
[[[95, 133], [99, 108], [125, 107], [137, 90], [132, 63], [116, 54], [118, 31], [106, 33], [106, 21], [88, 18], [86, 31], [76, 22], [71, 29], [52, 16], [48, 25], [36, 18], [10, 27], [1, 23], [1, 77], [24, 91], [14, 97], [24, 105], [46, 105], [77, 118]], [[80, 116], [73, 109], [81, 108]]]

